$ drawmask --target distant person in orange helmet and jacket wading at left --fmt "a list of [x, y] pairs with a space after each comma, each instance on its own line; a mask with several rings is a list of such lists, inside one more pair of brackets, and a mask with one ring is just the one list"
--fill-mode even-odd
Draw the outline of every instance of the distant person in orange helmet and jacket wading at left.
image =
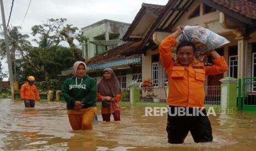
[[29, 76], [28, 80], [28, 82], [21, 86], [20, 98], [24, 101], [25, 107], [35, 107], [35, 100], [40, 101], [40, 96], [34, 85], [35, 78]]

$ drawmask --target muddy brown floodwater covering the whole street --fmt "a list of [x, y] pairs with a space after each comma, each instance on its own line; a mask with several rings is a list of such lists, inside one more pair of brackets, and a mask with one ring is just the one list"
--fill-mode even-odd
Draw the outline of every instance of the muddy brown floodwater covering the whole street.
[[0, 99], [0, 150], [255, 150], [256, 113], [210, 116], [214, 141], [168, 144], [166, 114], [145, 117], [145, 107], [122, 106], [121, 121], [98, 121], [92, 131], [72, 131], [64, 102]]

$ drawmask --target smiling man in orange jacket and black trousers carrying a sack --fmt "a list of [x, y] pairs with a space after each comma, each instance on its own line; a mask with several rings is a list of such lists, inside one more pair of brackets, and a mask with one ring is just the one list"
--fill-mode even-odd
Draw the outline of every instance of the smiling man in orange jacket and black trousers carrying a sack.
[[[188, 41], [178, 44], [177, 59], [173, 61], [171, 48], [176, 46], [176, 38], [182, 34], [183, 29], [184, 27], [178, 26], [177, 30], [159, 45], [160, 59], [167, 72], [169, 86], [166, 127], [168, 143], [183, 143], [189, 131], [194, 142], [211, 142], [211, 124], [204, 109], [205, 75], [224, 73], [228, 66], [224, 57], [215, 50], [205, 54], [213, 57], [213, 66], [204, 66], [203, 62], [194, 61], [195, 44]], [[193, 114], [194, 109], [200, 109], [204, 115]], [[190, 115], [181, 115], [177, 112], [187, 113], [187, 110]]]

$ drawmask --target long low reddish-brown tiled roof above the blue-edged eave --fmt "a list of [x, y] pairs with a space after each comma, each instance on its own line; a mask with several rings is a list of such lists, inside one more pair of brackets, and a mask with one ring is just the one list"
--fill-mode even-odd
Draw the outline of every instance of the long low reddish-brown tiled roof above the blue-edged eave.
[[[108, 50], [107, 53], [102, 53], [100, 55], [92, 57], [89, 61], [86, 61], [86, 65], [96, 65], [100, 63], [112, 62], [117, 60], [133, 59], [134, 57], [139, 57], [141, 54], [133, 55], [123, 55], [122, 53], [127, 51], [138, 51], [139, 45], [134, 42], [128, 42], [120, 45], [117, 48]], [[106, 55], [107, 54], [107, 55]]]

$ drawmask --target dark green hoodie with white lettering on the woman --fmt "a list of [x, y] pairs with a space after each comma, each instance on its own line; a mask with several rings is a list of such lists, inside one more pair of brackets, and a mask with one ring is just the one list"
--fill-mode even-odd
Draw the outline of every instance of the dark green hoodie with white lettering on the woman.
[[96, 80], [85, 75], [83, 78], [68, 78], [62, 85], [62, 95], [67, 102], [67, 109], [74, 109], [75, 101], [84, 103], [83, 108], [96, 107]]

